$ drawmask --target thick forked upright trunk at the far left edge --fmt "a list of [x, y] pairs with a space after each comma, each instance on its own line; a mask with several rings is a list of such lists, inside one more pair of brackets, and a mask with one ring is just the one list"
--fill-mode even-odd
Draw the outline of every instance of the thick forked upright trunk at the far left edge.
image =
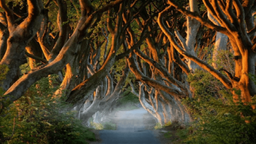
[[7, 49], [0, 62], [0, 65], [8, 65], [9, 71], [1, 85], [4, 90], [19, 79], [19, 66], [26, 63], [24, 54], [28, 42], [36, 35], [40, 22], [43, 19], [44, 6], [41, 0], [28, 0], [28, 17], [18, 26], [14, 24], [13, 12], [6, 6], [5, 1], [0, 1], [0, 7], [6, 12], [8, 31], [10, 36], [7, 40]]

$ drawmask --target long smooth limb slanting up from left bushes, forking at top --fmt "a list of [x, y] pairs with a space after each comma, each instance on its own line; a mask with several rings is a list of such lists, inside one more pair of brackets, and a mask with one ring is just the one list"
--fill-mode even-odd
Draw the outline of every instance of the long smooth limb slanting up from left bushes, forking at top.
[[[35, 3], [35, 1], [33, 1], [33, 3]], [[77, 24], [77, 28], [74, 30], [74, 33], [72, 34], [72, 36], [70, 36], [70, 38], [65, 43], [65, 45], [63, 45], [63, 48], [61, 49], [60, 54], [58, 54], [58, 56], [53, 61], [51, 61], [51, 63], [49, 63], [47, 65], [42, 65], [41, 67], [38, 67], [38, 68], [32, 70], [31, 72], [28, 72], [28, 74], [22, 76], [5, 93], [5, 95], [12, 95], [12, 97], [10, 96], [10, 97], [5, 97], [5, 98], [6, 99], [10, 98], [11, 101], [17, 100], [29, 88], [29, 86], [31, 86], [33, 83], [35, 83], [35, 81], [37, 81], [38, 79], [48, 76], [49, 74], [54, 74], [54, 73], [61, 71], [62, 68], [65, 67], [65, 65], [67, 65], [68, 62], [74, 60], [74, 58], [78, 52], [77, 45], [83, 39], [84, 35], [86, 34], [86, 29], [90, 26], [90, 24], [92, 24], [93, 19], [95, 19], [95, 17], [97, 17], [98, 15], [102, 14], [102, 12], [115, 6], [115, 4], [120, 4], [120, 3], [122, 3], [122, 0], [115, 1], [113, 3], [108, 4], [104, 8], [101, 8], [95, 12], [91, 12], [92, 8], [90, 8], [90, 4], [88, 4], [88, 1], [85, 2], [85, 1], [81, 0], [80, 1], [81, 8], [82, 8], [81, 19], [79, 20], [79, 22]], [[29, 12], [31, 12], [31, 10]], [[34, 21], [35, 20], [33, 20], [33, 22]], [[41, 22], [41, 20], [37, 20], [37, 22], [38, 21]], [[10, 22], [12, 22], [12, 21], [10, 21]], [[22, 24], [25, 25], [25, 23], [26, 22], [23, 22]], [[38, 25], [40, 26], [40, 24], [38, 24]], [[26, 26], [26, 27], [28, 27], [28, 26]], [[17, 28], [19, 28], [19, 27], [17, 27]], [[36, 33], [36, 31], [35, 31], [35, 33]], [[8, 42], [10, 42], [10, 40], [8, 40]], [[21, 44], [22, 44], [22, 42], [19, 42], [19, 46]], [[24, 47], [25, 46], [26, 45], [24, 45]], [[7, 52], [7, 54], [4, 55], [4, 57], [6, 57], [6, 58], [3, 59], [2, 61], [6, 61], [6, 59], [9, 58], [9, 55], [11, 55], [11, 53], [12, 52], [10, 52], [10, 54], [9, 54]], [[20, 52], [20, 53], [22, 53], [22, 52]], [[3, 62], [1, 62], [1, 63], [3, 63]], [[12, 67], [13, 67], [13, 65], [12, 65]], [[13, 70], [12, 70], [12, 72], [13, 72]], [[13, 76], [14, 76], [14, 72], [13, 72]], [[11, 77], [6, 79], [6, 81], [8, 81], [9, 83], [11, 83], [10, 82], [11, 80], [13, 80]], [[7, 84], [5, 84], [5, 86], [7, 86]]]

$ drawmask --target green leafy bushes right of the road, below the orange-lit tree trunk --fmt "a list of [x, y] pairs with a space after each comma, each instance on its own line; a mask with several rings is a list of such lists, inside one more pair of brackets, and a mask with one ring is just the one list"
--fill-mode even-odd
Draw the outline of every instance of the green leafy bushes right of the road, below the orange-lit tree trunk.
[[[189, 128], [192, 134], [184, 137], [186, 143], [255, 143], [255, 97], [247, 105], [234, 103], [220, 81], [202, 70], [189, 75], [188, 81], [195, 88], [195, 97], [185, 99], [184, 104], [195, 122]], [[189, 129], [184, 130], [185, 135]]]

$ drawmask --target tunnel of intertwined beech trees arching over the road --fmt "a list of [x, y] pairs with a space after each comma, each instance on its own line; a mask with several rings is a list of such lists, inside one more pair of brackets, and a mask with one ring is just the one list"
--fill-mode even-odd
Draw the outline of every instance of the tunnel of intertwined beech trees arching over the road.
[[[205, 124], [209, 111], [255, 127], [254, 0], [0, 0], [0, 7], [2, 117], [32, 86], [42, 94], [38, 81], [48, 77], [47, 95], [85, 123], [129, 89], [161, 125]], [[254, 130], [239, 131], [254, 140]], [[11, 137], [0, 134], [2, 142]]]

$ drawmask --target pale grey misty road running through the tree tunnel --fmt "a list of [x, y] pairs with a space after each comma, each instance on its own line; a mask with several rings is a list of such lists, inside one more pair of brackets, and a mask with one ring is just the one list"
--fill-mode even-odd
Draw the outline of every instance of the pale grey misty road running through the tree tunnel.
[[[151, 122], [149, 122], [151, 118]], [[144, 123], [143, 123], [144, 119]], [[115, 113], [117, 130], [100, 131], [102, 144], [157, 144], [154, 133], [145, 128], [152, 127], [152, 117], [143, 108]], [[146, 121], [145, 121], [146, 120]], [[146, 122], [146, 124], [145, 124]], [[148, 124], [147, 124], [148, 122]], [[151, 123], [151, 124], [149, 124]]]

